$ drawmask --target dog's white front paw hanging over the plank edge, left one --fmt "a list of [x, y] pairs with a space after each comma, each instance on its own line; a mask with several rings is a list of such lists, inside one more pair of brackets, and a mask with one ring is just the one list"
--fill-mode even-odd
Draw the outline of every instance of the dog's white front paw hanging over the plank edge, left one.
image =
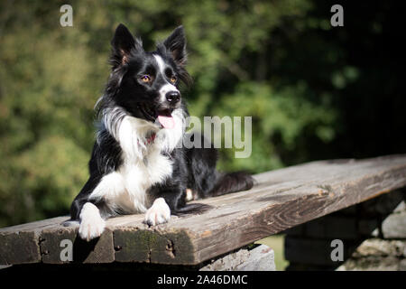
[[101, 218], [97, 207], [87, 202], [80, 211], [79, 237], [87, 241], [98, 238], [105, 230], [105, 227], [106, 222]]

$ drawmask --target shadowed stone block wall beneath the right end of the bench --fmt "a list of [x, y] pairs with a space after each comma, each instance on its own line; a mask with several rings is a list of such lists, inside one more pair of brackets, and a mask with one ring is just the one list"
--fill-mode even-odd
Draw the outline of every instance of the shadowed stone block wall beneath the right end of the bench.
[[392, 191], [287, 230], [286, 269], [406, 270], [405, 202], [404, 189]]

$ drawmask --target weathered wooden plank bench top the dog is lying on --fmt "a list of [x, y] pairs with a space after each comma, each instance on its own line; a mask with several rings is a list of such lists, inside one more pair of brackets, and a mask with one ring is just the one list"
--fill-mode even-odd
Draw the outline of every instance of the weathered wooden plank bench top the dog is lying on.
[[250, 191], [198, 200], [212, 206], [201, 215], [173, 217], [153, 228], [143, 224], [143, 215], [109, 219], [106, 232], [90, 244], [80, 245], [78, 228], [62, 227], [61, 219], [3, 228], [0, 264], [61, 263], [60, 241], [69, 239], [75, 252], [81, 252], [74, 254], [77, 262], [196, 265], [406, 186], [406, 155], [306, 163], [264, 172], [255, 179]]

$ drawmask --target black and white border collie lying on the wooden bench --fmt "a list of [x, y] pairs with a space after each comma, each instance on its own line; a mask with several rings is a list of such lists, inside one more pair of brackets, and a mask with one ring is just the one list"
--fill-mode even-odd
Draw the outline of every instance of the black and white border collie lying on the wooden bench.
[[250, 189], [245, 172], [216, 171], [213, 147], [178, 145], [189, 116], [179, 90], [180, 81], [190, 82], [183, 28], [146, 52], [120, 24], [112, 46], [112, 71], [96, 106], [90, 177], [70, 209], [80, 238], [99, 237], [105, 220], [119, 214], [143, 212], [151, 226], [167, 222], [171, 213], [193, 210], [186, 205], [189, 190], [198, 199]]

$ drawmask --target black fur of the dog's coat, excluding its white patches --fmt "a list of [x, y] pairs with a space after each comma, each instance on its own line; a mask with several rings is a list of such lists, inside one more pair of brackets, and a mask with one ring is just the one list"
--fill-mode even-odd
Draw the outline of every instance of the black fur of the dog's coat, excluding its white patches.
[[[160, 55], [167, 65], [165, 74], [157, 71], [153, 55]], [[106, 219], [116, 214], [125, 214], [125, 210], [113, 209], [103, 199], [90, 200], [103, 176], [117, 171], [123, 165], [123, 151], [115, 133], [125, 116], [138, 117], [153, 122], [157, 115], [170, 114], [175, 108], [187, 108], [180, 99], [177, 103], [162, 102], [159, 89], [171, 76], [176, 77], [173, 85], [179, 88], [180, 82], [190, 84], [185, 68], [187, 61], [186, 39], [183, 28], [178, 27], [168, 39], [157, 45], [153, 52], [143, 51], [141, 40], [134, 39], [127, 28], [120, 24], [112, 40], [110, 63], [112, 71], [106, 84], [105, 93], [97, 102], [97, 141], [89, 162], [90, 177], [71, 205], [71, 219], [79, 220], [83, 205], [90, 201], [100, 210]], [[143, 83], [140, 77], [152, 76], [151, 83]], [[167, 78], [167, 79], [165, 79]], [[165, 82], [166, 81], [166, 82]], [[152, 111], [148, 115], [145, 111]], [[108, 118], [108, 121], [104, 121]], [[107, 125], [106, 125], [107, 124]], [[109, 127], [106, 127], [109, 126]], [[194, 137], [202, 137], [194, 135]], [[217, 151], [215, 148], [175, 148], [168, 154], [173, 162], [170, 177], [164, 182], [152, 185], [147, 194], [153, 199], [162, 197], [172, 214], [198, 211], [201, 206], [186, 204], [186, 190], [191, 189], [198, 198], [207, 198], [234, 191], [248, 190], [253, 186], [252, 177], [245, 172], [217, 172]]]

